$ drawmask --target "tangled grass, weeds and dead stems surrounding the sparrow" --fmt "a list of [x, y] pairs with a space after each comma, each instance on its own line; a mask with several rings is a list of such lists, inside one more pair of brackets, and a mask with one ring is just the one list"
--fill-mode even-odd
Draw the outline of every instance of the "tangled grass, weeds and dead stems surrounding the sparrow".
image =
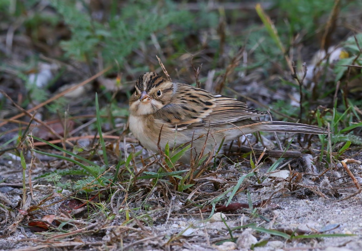
[[[276, 204], [360, 196], [361, 7], [0, 0], [1, 235], [39, 250], [213, 250], [243, 247], [248, 231], [252, 250], [360, 238], [330, 221], [285, 224]], [[192, 144], [148, 152], [128, 131], [128, 98], [140, 74], [163, 73], [156, 56], [173, 81], [328, 133], [255, 133], [190, 165], [178, 160]], [[323, 222], [332, 210], [320, 211]], [[227, 219], [211, 225], [216, 212]]]

